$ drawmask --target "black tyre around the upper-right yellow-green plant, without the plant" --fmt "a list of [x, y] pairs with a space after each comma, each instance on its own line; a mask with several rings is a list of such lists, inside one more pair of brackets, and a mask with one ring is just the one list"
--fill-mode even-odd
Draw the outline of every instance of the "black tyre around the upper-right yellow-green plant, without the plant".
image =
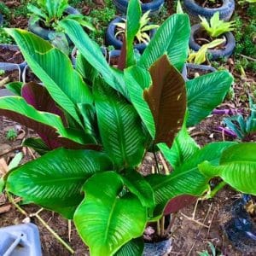
[[[189, 47], [198, 51], [201, 45], [196, 42], [197, 34], [201, 32], [201, 25], [195, 24], [191, 27], [191, 34], [189, 38]], [[228, 58], [234, 52], [236, 47], [236, 40], [231, 32], [225, 32], [223, 37], [225, 43], [222, 49], [208, 49], [208, 52], [212, 55], [212, 60], [218, 60], [219, 58]]]

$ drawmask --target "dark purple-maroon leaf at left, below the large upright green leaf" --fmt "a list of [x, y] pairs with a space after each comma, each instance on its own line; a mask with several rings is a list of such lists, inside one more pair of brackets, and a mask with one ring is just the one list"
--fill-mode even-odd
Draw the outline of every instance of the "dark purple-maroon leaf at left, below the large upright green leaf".
[[30, 82], [24, 84], [21, 89], [21, 96], [26, 102], [39, 111], [55, 113], [62, 119], [64, 125], [67, 125], [64, 113], [55, 104], [55, 101], [49, 95], [48, 90], [43, 85]]

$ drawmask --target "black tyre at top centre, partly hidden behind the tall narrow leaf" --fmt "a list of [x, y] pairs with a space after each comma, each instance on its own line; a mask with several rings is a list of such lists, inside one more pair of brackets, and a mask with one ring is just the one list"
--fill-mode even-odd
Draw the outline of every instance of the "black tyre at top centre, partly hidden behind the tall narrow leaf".
[[[118, 11], [124, 15], [127, 11], [128, 2], [129, 0], [113, 0], [113, 4], [115, 5], [116, 9], [118, 9]], [[149, 15], [156, 15], [157, 13], [159, 13], [161, 7], [165, 3], [165, 0], [151, 0], [147, 2], [148, 3], [141, 3], [143, 13], [147, 12], [150, 9]]]

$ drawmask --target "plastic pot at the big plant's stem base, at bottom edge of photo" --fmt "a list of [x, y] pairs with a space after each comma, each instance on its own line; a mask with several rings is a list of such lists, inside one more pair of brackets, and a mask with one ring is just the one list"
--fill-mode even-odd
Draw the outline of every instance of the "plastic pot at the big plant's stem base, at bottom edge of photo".
[[164, 256], [172, 251], [172, 238], [154, 243], [145, 242], [143, 256]]

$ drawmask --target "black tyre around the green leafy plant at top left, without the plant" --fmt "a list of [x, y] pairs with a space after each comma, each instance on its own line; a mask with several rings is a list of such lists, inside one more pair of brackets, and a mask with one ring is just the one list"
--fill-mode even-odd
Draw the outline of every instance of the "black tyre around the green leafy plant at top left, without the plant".
[[[79, 11], [77, 9], [74, 9], [73, 7], [69, 6], [65, 13], [67, 15], [80, 15]], [[44, 28], [40, 25], [40, 20], [36, 22], [32, 22], [32, 18], [28, 20], [28, 30], [33, 32], [34, 34], [38, 35], [41, 38], [44, 38], [45, 40], [49, 40], [50, 34], [55, 32], [54, 30], [50, 30], [47, 28]], [[70, 38], [67, 37], [67, 41], [69, 45], [72, 45], [72, 41]]]

